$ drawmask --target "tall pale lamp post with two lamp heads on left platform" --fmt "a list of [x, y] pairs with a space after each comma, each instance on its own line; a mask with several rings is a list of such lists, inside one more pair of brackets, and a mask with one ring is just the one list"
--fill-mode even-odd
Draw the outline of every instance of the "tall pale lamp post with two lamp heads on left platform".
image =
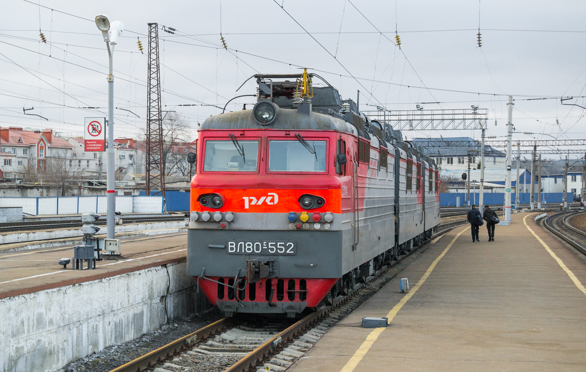
[[108, 60], [110, 61], [110, 67], [108, 69], [108, 149], [106, 151], [108, 163], [106, 173], [106, 226], [108, 239], [114, 239], [114, 75], [112, 74], [112, 57], [114, 54], [114, 46], [116, 45], [118, 36], [122, 35], [124, 25], [119, 20], [110, 23], [107, 15], [100, 14], [96, 16], [96, 26], [98, 26], [98, 29], [102, 32], [102, 36], [104, 36], [104, 42], [106, 42], [106, 46], [108, 47]]

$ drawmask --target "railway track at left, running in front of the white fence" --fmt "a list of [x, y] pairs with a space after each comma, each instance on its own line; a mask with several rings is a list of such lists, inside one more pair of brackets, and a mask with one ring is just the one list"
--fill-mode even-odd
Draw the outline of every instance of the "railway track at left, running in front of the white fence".
[[[81, 218], [80, 218], [81, 219]], [[152, 222], [173, 222], [183, 221], [183, 216], [157, 216], [157, 217], [130, 217], [124, 218], [124, 223], [152, 223]], [[96, 225], [105, 225], [105, 219], [99, 219]], [[8, 222], [0, 224], [0, 233], [25, 230], [54, 230], [67, 228], [81, 228], [83, 223], [76, 220], [55, 220], [55, 221], [28, 221], [28, 222]]]

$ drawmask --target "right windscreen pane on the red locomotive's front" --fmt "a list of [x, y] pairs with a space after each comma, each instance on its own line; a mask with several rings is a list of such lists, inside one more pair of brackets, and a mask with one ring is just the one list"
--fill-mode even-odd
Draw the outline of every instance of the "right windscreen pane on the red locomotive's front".
[[328, 153], [326, 141], [291, 140], [268, 142], [268, 170], [280, 172], [325, 172]]

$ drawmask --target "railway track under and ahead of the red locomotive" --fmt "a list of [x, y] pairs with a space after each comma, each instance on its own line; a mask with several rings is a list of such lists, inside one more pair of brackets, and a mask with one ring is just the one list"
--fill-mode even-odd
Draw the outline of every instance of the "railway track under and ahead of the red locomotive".
[[[440, 225], [432, 239], [464, 223], [468, 221]], [[333, 304], [323, 306], [295, 323], [291, 324], [291, 319], [280, 316], [236, 314], [233, 318], [220, 319], [110, 372], [154, 371], [155, 368], [171, 372], [285, 370], [318, 342], [328, 329], [403, 271], [417, 258], [411, 257], [414, 253], [418, 253], [418, 256], [425, 252], [426, 247], [429, 247], [428, 244], [423, 244], [399, 257], [366, 283], [358, 284], [349, 295], [334, 299]], [[233, 364], [221, 368], [219, 359], [229, 360]]]

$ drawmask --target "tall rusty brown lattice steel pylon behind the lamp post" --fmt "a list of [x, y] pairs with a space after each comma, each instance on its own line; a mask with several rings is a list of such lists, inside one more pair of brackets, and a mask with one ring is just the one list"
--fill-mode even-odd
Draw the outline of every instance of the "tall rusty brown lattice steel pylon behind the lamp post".
[[147, 170], [145, 195], [161, 195], [165, 199], [163, 169], [163, 118], [161, 116], [161, 77], [159, 74], [158, 23], [148, 24], [147, 79]]

